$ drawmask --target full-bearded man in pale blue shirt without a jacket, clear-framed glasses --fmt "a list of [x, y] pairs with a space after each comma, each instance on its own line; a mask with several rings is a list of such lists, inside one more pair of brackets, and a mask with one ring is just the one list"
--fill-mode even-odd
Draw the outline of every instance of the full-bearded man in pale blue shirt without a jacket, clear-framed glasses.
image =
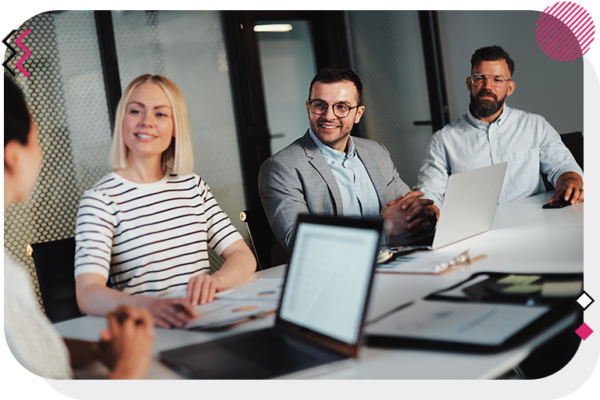
[[546, 191], [540, 171], [556, 188], [549, 202], [583, 201], [583, 171], [554, 128], [541, 116], [509, 108], [515, 63], [499, 46], [471, 57], [469, 110], [437, 131], [427, 148], [417, 187], [441, 208], [451, 174], [508, 161], [498, 204]]

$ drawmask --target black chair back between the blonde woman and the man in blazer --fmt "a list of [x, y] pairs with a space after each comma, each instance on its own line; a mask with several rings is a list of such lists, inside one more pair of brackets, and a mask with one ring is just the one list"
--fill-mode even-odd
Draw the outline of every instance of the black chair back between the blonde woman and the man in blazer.
[[242, 211], [240, 220], [246, 224], [259, 270], [288, 263], [288, 253], [273, 235], [267, 216], [262, 210]]

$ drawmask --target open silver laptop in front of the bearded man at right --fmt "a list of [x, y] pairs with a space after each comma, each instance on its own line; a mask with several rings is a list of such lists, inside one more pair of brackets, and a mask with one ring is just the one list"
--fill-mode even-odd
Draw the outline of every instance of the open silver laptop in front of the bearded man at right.
[[450, 175], [435, 233], [392, 238], [388, 251], [402, 254], [436, 250], [488, 231], [494, 222], [507, 166], [502, 162]]

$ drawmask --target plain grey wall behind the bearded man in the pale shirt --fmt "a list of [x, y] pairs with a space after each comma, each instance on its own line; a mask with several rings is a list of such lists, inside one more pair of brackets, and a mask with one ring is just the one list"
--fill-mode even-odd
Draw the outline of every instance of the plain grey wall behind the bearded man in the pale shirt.
[[466, 79], [478, 48], [501, 46], [515, 61], [515, 92], [506, 104], [540, 114], [560, 133], [583, 131], [583, 60], [546, 56], [537, 38], [539, 10], [440, 10], [440, 38], [450, 119], [467, 112]]

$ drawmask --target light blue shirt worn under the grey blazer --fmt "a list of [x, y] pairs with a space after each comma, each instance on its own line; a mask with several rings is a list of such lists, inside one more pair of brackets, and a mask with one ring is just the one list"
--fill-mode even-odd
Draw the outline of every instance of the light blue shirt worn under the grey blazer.
[[342, 195], [344, 216], [362, 218], [379, 216], [377, 192], [367, 169], [356, 153], [352, 137], [348, 136], [346, 154], [323, 144], [312, 129], [309, 128], [308, 131], [333, 172]]

